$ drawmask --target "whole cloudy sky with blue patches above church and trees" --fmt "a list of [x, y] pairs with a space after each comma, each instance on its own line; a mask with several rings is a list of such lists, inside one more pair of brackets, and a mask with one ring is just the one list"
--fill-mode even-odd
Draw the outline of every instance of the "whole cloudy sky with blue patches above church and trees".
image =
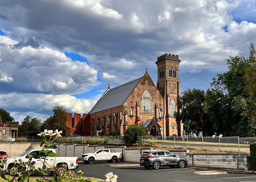
[[88, 113], [108, 87], [179, 55], [181, 91], [210, 87], [256, 44], [255, 0], [0, 0], [0, 108]]

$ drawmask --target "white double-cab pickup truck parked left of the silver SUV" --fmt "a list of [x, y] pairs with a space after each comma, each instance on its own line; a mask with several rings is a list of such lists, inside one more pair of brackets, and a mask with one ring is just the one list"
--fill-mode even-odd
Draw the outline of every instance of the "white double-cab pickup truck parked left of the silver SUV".
[[118, 159], [122, 158], [121, 152], [115, 152], [110, 149], [97, 149], [91, 153], [86, 153], [82, 155], [82, 161], [86, 164], [93, 164], [94, 161], [107, 161], [117, 163]]

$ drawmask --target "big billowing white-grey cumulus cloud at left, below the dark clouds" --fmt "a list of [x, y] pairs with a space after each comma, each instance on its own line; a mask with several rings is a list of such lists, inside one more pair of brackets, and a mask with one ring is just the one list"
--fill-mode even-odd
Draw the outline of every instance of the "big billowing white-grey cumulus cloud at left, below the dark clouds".
[[[28, 40], [29, 41], [29, 40]], [[27, 41], [27, 42], [28, 42]], [[75, 94], [97, 86], [97, 70], [86, 63], [72, 61], [63, 53], [49, 47], [31, 47], [11, 44], [0, 36], [1, 68], [10, 75], [1, 74], [0, 80], [12, 81], [5, 92], [24, 91], [45, 94]], [[19, 46], [17, 46], [19, 45]], [[4, 84], [0, 83], [4, 87]]]

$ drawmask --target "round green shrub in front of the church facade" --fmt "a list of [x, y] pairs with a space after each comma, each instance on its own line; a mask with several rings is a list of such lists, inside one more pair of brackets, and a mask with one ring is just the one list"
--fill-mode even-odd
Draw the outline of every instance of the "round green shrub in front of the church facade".
[[132, 124], [127, 127], [124, 131], [124, 142], [127, 145], [132, 145], [137, 142], [138, 136], [145, 136], [146, 131], [142, 129], [139, 125]]

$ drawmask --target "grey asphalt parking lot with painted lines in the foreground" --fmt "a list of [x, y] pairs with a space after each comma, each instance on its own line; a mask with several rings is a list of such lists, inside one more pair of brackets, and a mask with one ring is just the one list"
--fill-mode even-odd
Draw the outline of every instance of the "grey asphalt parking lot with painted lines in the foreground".
[[[179, 169], [177, 167], [162, 167], [159, 170], [153, 170], [152, 168], [146, 170], [144, 167], [141, 167], [138, 164], [109, 164], [105, 162], [97, 162], [93, 165], [79, 162], [79, 169], [83, 169], [84, 175], [87, 177], [95, 177], [100, 179], [105, 179], [104, 175], [106, 173], [113, 172], [113, 174], [118, 175], [117, 181], [120, 182], [256, 182], [256, 174], [254, 175], [252, 171], [241, 171], [236, 169], [203, 169], [196, 167]], [[196, 174], [195, 172], [201, 173], [201, 175]]]

